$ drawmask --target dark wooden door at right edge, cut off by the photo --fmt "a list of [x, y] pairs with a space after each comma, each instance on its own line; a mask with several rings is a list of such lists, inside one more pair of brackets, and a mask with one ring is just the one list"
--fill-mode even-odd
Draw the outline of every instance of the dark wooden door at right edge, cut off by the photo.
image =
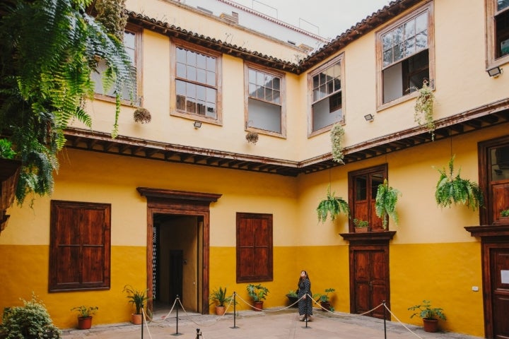
[[509, 247], [490, 251], [493, 338], [509, 339]]

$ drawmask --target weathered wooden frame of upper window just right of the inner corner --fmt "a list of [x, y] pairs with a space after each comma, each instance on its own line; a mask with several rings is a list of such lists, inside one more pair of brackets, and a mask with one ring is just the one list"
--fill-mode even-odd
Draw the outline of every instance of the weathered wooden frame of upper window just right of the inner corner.
[[[322, 73], [323, 71], [331, 68], [332, 66], [335, 66], [336, 64], [340, 64], [340, 72], [339, 79], [341, 81], [341, 88], [337, 91], [334, 91], [333, 93], [330, 93], [329, 95], [326, 95], [324, 97], [320, 97], [319, 100], [314, 100], [313, 96], [313, 77], [317, 76], [318, 74]], [[334, 57], [334, 59], [331, 59], [330, 61], [327, 61], [327, 63], [323, 64], [322, 66], [318, 67], [317, 69], [314, 69], [313, 71], [310, 71], [308, 73], [308, 138], [311, 136], [316, 136], [317, 134], [324, 133], [326, 131], [330, 131], [332, 129], [332, 126], [334, 124], [340, 123], [345, 124], [345, 112], [346, 112], [346, 105], [345, 105], [345, 66], [344, 66], [344, 53], [339, 54], [337, 57]], [[329, 97], [332, 97], [332, 95], [336, 95], [338, 93], [341, 93], [341, 118], [338, 121], [334, 121], [332, 124], [329, 124], [327, 126], [322, 127], [321, 129], [317, 129], [316, 131], [313, 131], [313, 105], [317, 104], [318, 102], [322, 102], [323, 100], [327, 100]], [[334, 111], [336, 112], [336, 111]], [[330, 113], [330, 112], [329, 112]]]

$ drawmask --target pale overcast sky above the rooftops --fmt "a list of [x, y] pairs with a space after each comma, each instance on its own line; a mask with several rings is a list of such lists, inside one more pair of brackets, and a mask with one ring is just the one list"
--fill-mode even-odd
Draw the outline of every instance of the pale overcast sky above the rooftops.
[[231, 0], [322, 37], [334, 38], [390, 0]]

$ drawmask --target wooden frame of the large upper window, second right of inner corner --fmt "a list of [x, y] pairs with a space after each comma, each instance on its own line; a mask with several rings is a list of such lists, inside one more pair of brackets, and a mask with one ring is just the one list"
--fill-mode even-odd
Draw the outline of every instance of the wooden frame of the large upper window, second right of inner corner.
[[425, 51], [426, 49], [421, 49], [419, 52], [411, 54], [409, 56], [404, 57], [403, 59], [398, 60], [388, 66], [383, 66], [383, 47], [382, 47], [382, 37], [387, 32], [394, 30], [395, 28], [403, 25], [409, 20], [420, 16], [422, 13], [428, 13], [428, 73], [429, 73], [429, 83], [428, 85], [431, 88], [435, 88], [435, 23], [433, 20], [433, 1], [428, 0], [426, 4], [419, 6], [394, 21], [390, 25], [387, 25], [382, 30], [376, 32], [376, 63], [377, 63], [377, 111], [385, 109], [387, 107], [392, 107], [394, 105], [398, 105], [401, 102], [406, 100], [411, 100], [416, 97], [416, 92], [409, 90], [408, 93], [403, 93], [401, 97], [397, 97], [394, 100], [389, 102], [384, 102], [384, 81], [383, 81], [383, 71], [385, 69], [390, 68], [391, 66], [402, 64], [405, 60], [416, 56], [420, 52]]

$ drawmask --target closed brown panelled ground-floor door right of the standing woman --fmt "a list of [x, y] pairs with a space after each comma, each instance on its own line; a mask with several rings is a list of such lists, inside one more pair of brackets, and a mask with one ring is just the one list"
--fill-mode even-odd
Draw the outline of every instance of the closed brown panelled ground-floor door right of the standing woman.
[[[364, 314], [384, 301], [390, 307], [388, 261], [388, 246], [351, 247], [351, 313]], [[384, 307], [366, 315], [383, 318]]]

